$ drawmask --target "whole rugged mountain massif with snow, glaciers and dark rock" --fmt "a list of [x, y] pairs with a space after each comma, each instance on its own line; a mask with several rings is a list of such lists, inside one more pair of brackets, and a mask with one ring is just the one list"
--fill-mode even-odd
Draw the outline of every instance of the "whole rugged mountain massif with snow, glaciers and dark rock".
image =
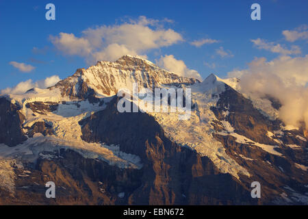
[[[123, 98], [145, 101], [116, 95], [133, 83], [190, 88], [188, 119], [120, 113]], [[242, 94], [238, 79], [201, 82], [125, 55], [0, 105], [0, 204], [308, 204], [305, 129], [289, 130], [279, 104]], [[48, 181], [56, 198], [45, 196]], [[261, 198], [251, 197], [254, 181]]]

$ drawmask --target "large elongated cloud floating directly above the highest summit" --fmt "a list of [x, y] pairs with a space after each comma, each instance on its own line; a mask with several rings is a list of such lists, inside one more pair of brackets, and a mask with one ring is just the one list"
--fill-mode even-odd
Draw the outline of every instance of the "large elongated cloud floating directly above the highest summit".
[[[181, 34], [164, 28], [164, 23], [140, 16], [120, 25], [98, 26], [82, 31], [81, 37], [60, 33], [50, 36], [55, 47], [67, 55], [85, 57], [89, 64], [98, 60], [114, 61], [123, 55], [140, 55], [151, 49], [183, 41]], [[143, 55], [144, 56], [144, 55]]]

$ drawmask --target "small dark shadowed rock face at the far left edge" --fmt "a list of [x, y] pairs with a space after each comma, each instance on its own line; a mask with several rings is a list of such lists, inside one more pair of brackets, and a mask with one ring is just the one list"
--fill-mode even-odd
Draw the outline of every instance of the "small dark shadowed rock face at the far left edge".
[[5, 98], [0, 98], [0, 143], [15, 146], [27, 140], [21, 125], [25, 116], [18, 112], [20, 108]]

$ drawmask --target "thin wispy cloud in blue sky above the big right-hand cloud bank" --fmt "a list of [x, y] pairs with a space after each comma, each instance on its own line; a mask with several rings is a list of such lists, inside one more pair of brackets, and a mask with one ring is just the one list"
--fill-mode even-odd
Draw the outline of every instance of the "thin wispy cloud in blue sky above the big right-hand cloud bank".
[[298, 46], [292, 45], [291, 49], [285, 48], [283, 45], [274, 42], [268, 42], [261, 38], [257, 38], [256, 40], [251, 40], [257, 49], [265, 49], [267, 51], [271, 51], [272, 53], [279, 53], [282, 55], [292, 55], [292, 54], [300, 54], [300, 48]]

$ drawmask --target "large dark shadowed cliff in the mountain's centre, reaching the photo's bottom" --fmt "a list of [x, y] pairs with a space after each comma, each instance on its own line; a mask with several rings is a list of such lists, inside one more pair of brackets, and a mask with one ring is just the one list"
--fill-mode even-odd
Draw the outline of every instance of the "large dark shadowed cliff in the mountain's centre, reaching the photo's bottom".
[[142, 183], [129, 193], [133, 205], [205, 205], [255, 203], [242, 183], [220, 174], [214, 164], [195, 151], [164, 136], [148, 114], [118, 113], [114, 99], [102, 112], [81, 120], [88, 142], [120, 144], [120, 150], [142, 159]]

